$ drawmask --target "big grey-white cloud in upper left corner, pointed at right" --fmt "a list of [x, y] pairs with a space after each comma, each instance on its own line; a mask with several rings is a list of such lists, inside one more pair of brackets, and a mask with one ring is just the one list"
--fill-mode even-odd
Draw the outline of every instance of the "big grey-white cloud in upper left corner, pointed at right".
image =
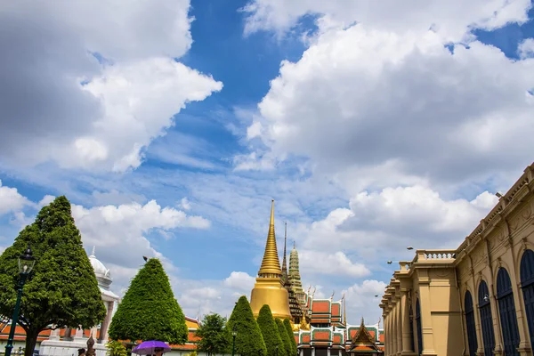
[[10, 154], [0, 157], [12, 166], [139, 166], [174, 114], [222, 88], [172, 60], [190, 48], [189, 8], [188, 0], [3, 6], [0, 149]]

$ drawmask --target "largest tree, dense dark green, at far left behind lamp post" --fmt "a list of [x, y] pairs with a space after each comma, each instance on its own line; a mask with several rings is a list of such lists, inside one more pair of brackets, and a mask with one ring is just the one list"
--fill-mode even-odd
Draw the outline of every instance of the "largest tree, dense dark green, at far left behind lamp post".
[[47, 328], [92, 328], [106, 316], [93, 267], [82, 247], [69, 200], [55, 198], [20, 231], [0, 256], [0, 314], [11, 317], [19, 281], [18, 258], [31, 244], [36, 264], [24, 285], [19, 324], [26, 331], [25, 355], [33, 354]]

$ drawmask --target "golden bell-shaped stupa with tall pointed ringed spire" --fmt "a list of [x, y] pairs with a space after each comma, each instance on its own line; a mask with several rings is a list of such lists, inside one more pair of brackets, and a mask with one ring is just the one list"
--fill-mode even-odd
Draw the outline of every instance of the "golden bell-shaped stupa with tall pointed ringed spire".
[[267, 234], [262, 266], [258, 271], [258, 277], [250, 295], [250, 307], [255, 318], [258, 317], [263, 305], [268, 304], [271, 307], [273, 317], [291, 319], [289, 295], [287, 294], [287, 289], [282, 285], [281, 277], [282, 270], [280, 269], [274, 235], [274, 200], [272, 200], [271, 222], [269, 223], [269, 233]]

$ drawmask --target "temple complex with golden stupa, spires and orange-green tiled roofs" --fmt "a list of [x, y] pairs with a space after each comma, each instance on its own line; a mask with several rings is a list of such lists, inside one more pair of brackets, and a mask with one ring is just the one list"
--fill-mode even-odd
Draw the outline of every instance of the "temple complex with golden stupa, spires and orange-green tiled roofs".
[[275, 318], [289, 318], [293, 324], [299, 356], [382, 355], [384, 330], [378, 325], [349, 325], [345, 317], [345, 298], [315, 298], [315, 291], [303, 291], [295, 244], [289, 255], [287, 270], [287, 228], [284, 237], [282, 267], [274, 231], [274, 201], [271, 221], [250, 306], [257, 318], [263, 304], [271, 307]]

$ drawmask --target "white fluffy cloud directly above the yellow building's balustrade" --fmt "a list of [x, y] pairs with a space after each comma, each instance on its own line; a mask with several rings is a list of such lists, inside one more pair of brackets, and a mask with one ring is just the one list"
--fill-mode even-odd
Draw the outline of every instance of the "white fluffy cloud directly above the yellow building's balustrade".
[[[471, 201], [447, 200], [421, 186], [362, 192], [351, 199], [350, 208], [333, 210], [309, 227], [299, 226], [296, 233], [302, 241], [302, 258], [310, 260], [303, 263], [303, 271], [313, 273], [317, 265], [313, 262], [326, 261], [324, 256], [330, 255], [336, 256], [337, 264], [324, 266], [333, 274], [352, 271], [353, 276], [362, 277], [369, 270], [381, 269], [386, 260], [411, 259], [405, 250], [409, 245], [455, 248], [497, 201], [488, 192]], [[306, 249], [322, 251], [324, 256], [307, 258]], [[359, 263], [349, 264], [346, 255], [337, 252], [341, 249], [357, 256]]]

